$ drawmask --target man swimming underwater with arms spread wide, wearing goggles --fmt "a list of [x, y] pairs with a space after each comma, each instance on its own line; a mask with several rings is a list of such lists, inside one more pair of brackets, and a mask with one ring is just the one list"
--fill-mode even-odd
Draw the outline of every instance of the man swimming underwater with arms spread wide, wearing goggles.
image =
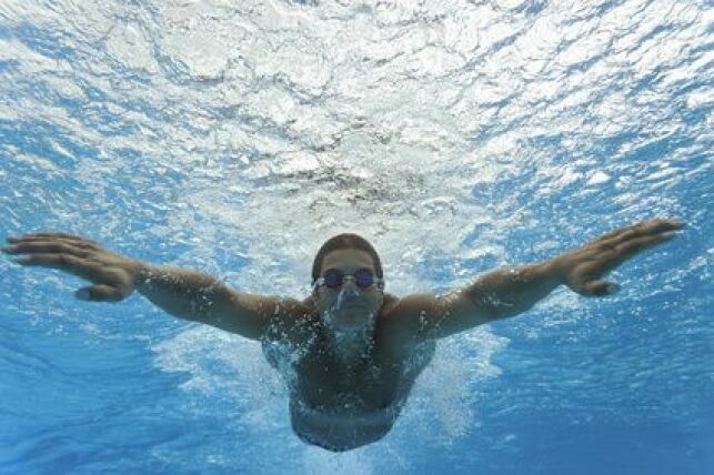
[[79, 300], [119, 302], [133, 291], [179, 319], [260, 341], [290, 390], [291, 425], [308, 444], [332, 452], [384, 437], [435, 341], [526, 312], [566, 285], [585, 296], [611, 295], [605, 275], [636, 253], [674, 238], [676, 220], [650, 220], [604, 234], [556, 257], [490, 272], [445, 294], [402, 299], [385, 292], [374, 247], [340, 234], [318, 251], [304, 300], [254, 295], [179, 267], [153, 265], [62, 233], [8, 238], [14, 262], [92, 283]]

